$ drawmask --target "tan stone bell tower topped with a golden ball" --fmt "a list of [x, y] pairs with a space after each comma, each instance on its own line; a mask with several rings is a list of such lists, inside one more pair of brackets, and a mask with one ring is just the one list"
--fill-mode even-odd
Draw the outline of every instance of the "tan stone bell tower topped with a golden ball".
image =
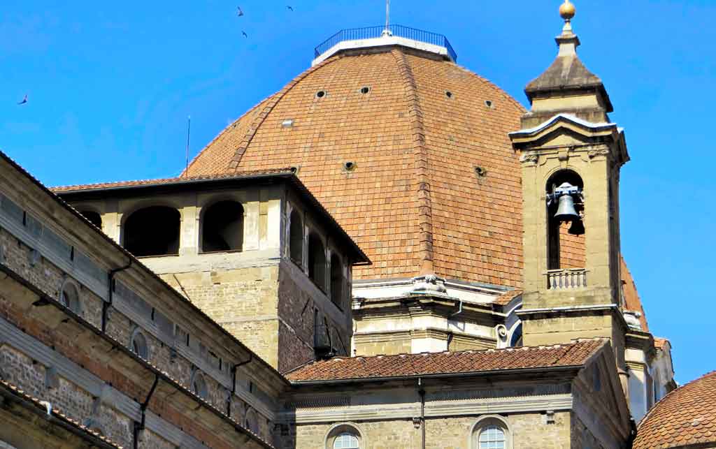
[[560, 14], [557, 58], [526, 87], [531, 110], [510, 134], [522, 166], [519, 315], [525, 345], [609, 337], [623, 368], [619, 170], [629, 155], [604, 84], [576, 54], [574, 5]]

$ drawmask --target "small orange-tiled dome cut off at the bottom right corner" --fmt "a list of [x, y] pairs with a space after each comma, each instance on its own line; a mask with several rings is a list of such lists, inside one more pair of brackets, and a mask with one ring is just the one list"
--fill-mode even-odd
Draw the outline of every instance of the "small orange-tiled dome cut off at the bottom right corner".
[[716, 371], [677, 388], [654, 405], [639, 424], [633, 448], [700, 443], [716, 443]]

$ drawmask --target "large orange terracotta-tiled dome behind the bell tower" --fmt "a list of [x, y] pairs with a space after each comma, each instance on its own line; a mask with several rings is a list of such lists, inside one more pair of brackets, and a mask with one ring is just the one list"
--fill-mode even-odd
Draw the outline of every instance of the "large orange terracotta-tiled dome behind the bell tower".
[[373, 261], [356, 278], [433, 271], [518, 287], [521, 174], [508, 132], [524, 112], [430, 54], [339, 54], [227, 127], [188, 175], [297, 167]]

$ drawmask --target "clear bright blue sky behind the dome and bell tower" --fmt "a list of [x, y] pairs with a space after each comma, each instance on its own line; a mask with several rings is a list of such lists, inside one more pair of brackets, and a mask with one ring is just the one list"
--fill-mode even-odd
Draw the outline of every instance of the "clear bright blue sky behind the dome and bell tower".
[[[237, 1], [4, 1], [0, 148], [48, 185], [174, 176], [188, 115], [193, 156], [316, 44], [384, 20], [383, 0]], [[624, 256], [684, 383], [716, 369], [716, 2], [575, 2], [581, 58], [627, 129]], [[460, 64], [526, 104], [556, 54], [559, 3], [393, 0], [392, 22], [446, 34]]]

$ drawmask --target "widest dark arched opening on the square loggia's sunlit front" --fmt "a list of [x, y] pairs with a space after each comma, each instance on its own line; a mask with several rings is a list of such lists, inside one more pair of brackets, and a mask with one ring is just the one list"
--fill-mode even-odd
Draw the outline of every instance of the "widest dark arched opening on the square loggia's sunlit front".
[[179, 254], [181, 217], [177, 209], [151, 206], [127, 217], [124, 245], [137, 257]]

